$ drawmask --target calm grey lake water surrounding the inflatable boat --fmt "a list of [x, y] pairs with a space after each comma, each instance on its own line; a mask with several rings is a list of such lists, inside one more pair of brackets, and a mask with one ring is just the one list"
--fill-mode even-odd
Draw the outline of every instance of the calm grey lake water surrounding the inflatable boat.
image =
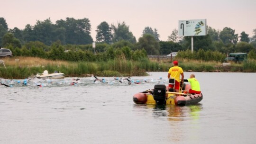
[[149, 73], [132, 77], [149, 83], [133, 85], [2, 80], [13, 87], [0, 86], [0, 144], [255, 144], [256, 73], [193, 72], [204, 95], [199, 104], [136, 105], [135, 93], [167, 77]]

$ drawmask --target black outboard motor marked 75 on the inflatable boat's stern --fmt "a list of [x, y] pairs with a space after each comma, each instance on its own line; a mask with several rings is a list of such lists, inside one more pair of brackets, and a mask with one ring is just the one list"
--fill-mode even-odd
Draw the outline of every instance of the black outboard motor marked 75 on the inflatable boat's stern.
[[166, 86], [165, 84], [156, 84], [154, 87], [153, 96], [157, 105], [166, 104]]

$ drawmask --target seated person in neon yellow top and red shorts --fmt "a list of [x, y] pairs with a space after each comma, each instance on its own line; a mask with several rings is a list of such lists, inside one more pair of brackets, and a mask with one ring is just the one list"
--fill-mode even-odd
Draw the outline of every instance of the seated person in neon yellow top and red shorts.
[[201, 93], [199, 81], [197, 81], [194, 74], [191, 74], [189, 79], [187, 79], [187, 80], [184, 79], [184, 82], [189, 82], [191, 85], [191, 89], [183, 90], [183, 93], [188, 93], [188, 92], [195, 93], [195, 94]]

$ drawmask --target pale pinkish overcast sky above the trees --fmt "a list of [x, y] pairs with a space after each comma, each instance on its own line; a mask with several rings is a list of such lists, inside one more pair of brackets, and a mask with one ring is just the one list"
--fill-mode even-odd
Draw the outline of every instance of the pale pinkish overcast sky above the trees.
[[0, 17], [8, 27], [24, 29], [37, 20], [50, 18], [55, 24], [65, 18], [88, 18], [91, 37], [101, 22], [117, 26], [125, 22], [138, 40], [145, 27], [157, 29], [167, 41], [179, 20], [206, 19], [216, 30], [230, 27], [240, 36], [253, 36], [256, 29], [256, 0], [0, 0]]

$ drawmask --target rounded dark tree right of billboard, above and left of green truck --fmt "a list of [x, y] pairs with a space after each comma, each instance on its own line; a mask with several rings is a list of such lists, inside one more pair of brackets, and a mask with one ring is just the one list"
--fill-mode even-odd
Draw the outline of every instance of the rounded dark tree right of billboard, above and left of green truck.
[[225, 45], [236, 45], [238, 42], [238, 34], [235, 34], [235, 30], [229, 27], [224, 27], [219, 33], [219, 39], [222, 40]]

